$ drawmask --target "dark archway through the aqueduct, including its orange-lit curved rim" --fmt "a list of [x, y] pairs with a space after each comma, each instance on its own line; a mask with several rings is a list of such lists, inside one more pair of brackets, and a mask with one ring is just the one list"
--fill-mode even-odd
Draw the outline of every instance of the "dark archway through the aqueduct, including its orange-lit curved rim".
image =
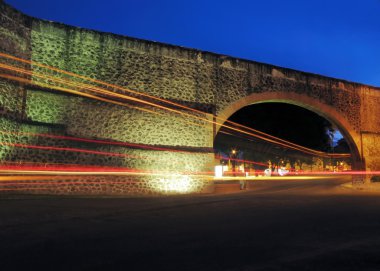
[[[276, 107], [278, 109], [273, 110]], [[293, 113], [288, 114], [287, 110]], [[258, 114], [260, 111], [262, 113]], [[256, 115], [251, 115], [250, 118], [249, 114]], [[294, 97], [245, 98], [230, 105], [218, 116], [225, 119], [225, 125], [230, 125], [230, 121], [233, 121], [238, 125], [248, 126], [290, 143], [326, 153], [325, 156], [311, 155], [311, 153], [287, 148], [273, 142], [254, 139], [247, 134], [237, 135], [238, 133], [231, 129], [226, 130], [225, 126], [219, 126], [216, 127], [214, 149], [219, 158], [222, 158], [221, 163], [223, 163], [223, 159], [224, 163], [230, 163], [228, 161], [234, 150], [237, 160], [256, 165], [248, 166], [248, 168], [264, 169], [268, 167], [268, 161], [277, 166], [282, 163], [283, 166], [292, 170], [303, 170], [305, 167], [318, 171], [362, 170], [364, 168], [364, 161], [360, 154], [360, 148], [358, 148], [361, 143], [359, 135], [333, 108], [329, 108], [325, 104], [318, 104], [308, 97], [306, 99], [305, 97], [301, 97], [301, 99], [294, 99]], [[261, 118], [259, 122], [257, 117]], [[263, 120], [264, 118], [266, 120]], [[303, 120], [303, 123], [300, 120]], [[310, 123], [304, 125], [305, 120], [309, 120]], [[252, 121], [255, 121], [256, 124], [253, 124]], [[285, 129], [286, 127], [290, 130]], [[316, 144], [318, 138], [313, 137], [318, 133], [320, 142], [317, 143], [319, 146]], [[297, 135], [299, 135], [298, 138]], [[348, 153], [350, 156], [340, 156], [343, 153]], [[244, 167], [247, 166], [244, 165]]]

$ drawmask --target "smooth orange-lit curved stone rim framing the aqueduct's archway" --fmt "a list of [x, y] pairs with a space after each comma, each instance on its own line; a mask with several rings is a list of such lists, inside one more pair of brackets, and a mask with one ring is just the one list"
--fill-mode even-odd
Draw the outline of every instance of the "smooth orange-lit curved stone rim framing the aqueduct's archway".
[[[252, 93], [246, 97], [242, 97], [237, 101], [226, 106], [218, 114], [218, 123], [224, 123], [238, 110], [257, 103], [278, 102], [288, 103], [308, 109], [334, 124], [346, 139], [352, 155], [352, 167], [356, 170], [365, 168], [364, 159], [362, 157], [362, 141], [361, 136], [355, 131], [354, 127], [344, 118], [336, 108], [321, 103], [319, 100], [293, 92], [265, 92]], [[221, 125], [217, 125], [215, 129], [214, 139]]]

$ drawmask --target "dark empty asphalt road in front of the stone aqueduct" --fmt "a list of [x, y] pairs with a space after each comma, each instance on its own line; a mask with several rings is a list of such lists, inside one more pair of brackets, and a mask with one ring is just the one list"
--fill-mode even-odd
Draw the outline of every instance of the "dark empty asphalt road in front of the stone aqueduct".
[[380, 270], [380, 194], [347, 180], [242, 193], [0, 198], [0, 270]]

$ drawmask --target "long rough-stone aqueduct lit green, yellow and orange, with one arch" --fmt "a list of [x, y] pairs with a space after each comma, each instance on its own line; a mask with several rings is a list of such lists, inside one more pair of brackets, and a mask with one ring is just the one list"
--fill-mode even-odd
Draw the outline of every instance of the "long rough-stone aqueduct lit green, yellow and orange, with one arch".
[[[196, 117], [209, 120], [213, 120], [214, 115], [227, 119], [240, 108], [257, 102], [299, 105], [324, 116], [340, 129], [349, 142], [355, 169], [380, 170], [379, 88], [48, 22], [24, 15], [2, 1], [0, 53], [33, 61], [0, 58], [1, 64], [32, 72], [23, 75], [30, 83], [4, 76], [0, 78], [0, 139], [3, 143], [0, 159], [3, 163], [97, 164], [178, 172], [212, 168], [213, 139], [218, 127], [211, 122], [198, 118], [189, 120], [173, 112], [165, 112], [163, 117], [163, 110], [148, 105], [141, 106], [147, 109], [141, 111], [133, 106], [59, 92], [46, 86], [51, 82], [37, 75], [67, 77], [35, 64], [42, 63], [203, 111], [196, 113]], [[0, 72], [11, 73], [6, 69], [0, 69]], [[82, 82], [78, 78], [70, 80]], [[59, 87], [59, 83], [54, 84]], [[125, 93], [123, 90], [113, 91]], [[178, 110], [186, 113], [185, 109]], [[23, 148], [26, 145], [78, 146], [75, 141], [36, 134], [113, 140], [142, 144], [147, 148], [81, 143], [81, 146], [87, 144], [86, 148], [95, 151], [123, 153], [123, 157]], [[15, 147], [14, 143], [22, 146]], [[157, 151], [150, 148], [152, 146], [183, 151]], [[114, 176], [112, 178], [120, 183], [112, 186], [105, 184], [108, 177], [97, 178], [100, 184], [45, 187], [44, 191], [123, 194], [166, 193], [172, 189], [170, 180], [160, 177], [146, 180], [138, 176]], [[192, 177], [189, 182], [190, 192], [209, 187], [208, 181], [197, 177]], [[162, 186], [164, 189], [160, 190]], [[27, 192], [32, 191], [38, 192], [38, 189]]]

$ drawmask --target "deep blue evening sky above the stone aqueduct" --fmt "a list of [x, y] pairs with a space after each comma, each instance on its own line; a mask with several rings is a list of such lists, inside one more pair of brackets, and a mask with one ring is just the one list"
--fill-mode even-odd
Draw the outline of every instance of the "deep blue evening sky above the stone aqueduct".
[[26, 14], [380, 86], [380, 0], [5, 0]]

